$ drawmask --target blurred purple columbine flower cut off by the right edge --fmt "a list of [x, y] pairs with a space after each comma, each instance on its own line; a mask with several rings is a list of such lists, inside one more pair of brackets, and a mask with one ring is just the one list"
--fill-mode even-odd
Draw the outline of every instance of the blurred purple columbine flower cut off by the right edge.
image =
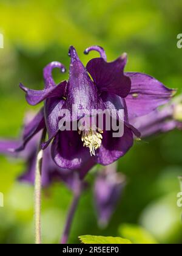
[[174, 98], [174, 101], [148, 115], [133, 118], [131, 123], [140, 130], [142, 138], [174, 129], [182, 130], [182, 105], [179, 100], [181, 97]]

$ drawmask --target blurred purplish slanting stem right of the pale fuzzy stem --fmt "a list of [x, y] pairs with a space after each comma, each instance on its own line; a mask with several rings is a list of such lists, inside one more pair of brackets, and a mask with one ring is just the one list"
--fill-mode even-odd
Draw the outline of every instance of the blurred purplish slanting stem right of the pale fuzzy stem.
[[73, 201], [72, 201], [72, 204], [71, 204], [70, 209], [69, 209], [66, 225], [64, 227], [64, 232], [63, 232], [63, 235], [62, 235], [62, 238], [61, 238], [61, 244], [66, 244], [67, 241], [68, 241], [69, 234], [70, 234], [70, 229], [71, 229], [72, 222], [73, 222], [73, 217], [75, 215], [76, 208], [78, 206], [80, 196], [81, 196], [81, 190], [78, 190], [78, 191], [74, 192]]

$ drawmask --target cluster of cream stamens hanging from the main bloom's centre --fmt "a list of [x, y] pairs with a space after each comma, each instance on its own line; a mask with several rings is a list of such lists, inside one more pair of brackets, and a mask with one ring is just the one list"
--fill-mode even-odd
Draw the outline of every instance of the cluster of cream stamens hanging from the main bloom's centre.
[[83, 141], [83, 146], [86, 146], [86, 148], [89, 148], [90, 155], [95, 155], [95, 150], [100, 148], [103, 136], [101, 133], [103, 133], [102, 130], [79, 130], [79, 134], [81, 134], [81, 140]]

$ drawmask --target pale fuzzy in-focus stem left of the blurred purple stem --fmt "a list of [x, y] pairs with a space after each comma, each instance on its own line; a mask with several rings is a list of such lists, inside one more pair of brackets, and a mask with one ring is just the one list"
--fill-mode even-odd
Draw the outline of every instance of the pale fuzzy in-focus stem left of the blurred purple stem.
[[[41, 141], [44, 141], [46, 130], [42, 132]], [[41, 244], [41, 169], [42, 169], [43, 151], [41, 147], [38, 148], [35, 169], [35, 243]]]

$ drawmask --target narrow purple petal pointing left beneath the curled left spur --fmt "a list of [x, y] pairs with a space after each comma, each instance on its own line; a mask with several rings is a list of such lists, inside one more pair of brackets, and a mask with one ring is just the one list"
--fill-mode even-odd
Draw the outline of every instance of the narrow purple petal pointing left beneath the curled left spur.
[[30, 105], [36, 105], [44, 99], [59, 97], [65, 95], [67, 82], [61, 82], [61, 84], [49, 88], [45, 88], [44, 90], [32, 90], [24, 87], [24, 85], [20, 84], [19, 87], [25, 91], [27, 102]]

